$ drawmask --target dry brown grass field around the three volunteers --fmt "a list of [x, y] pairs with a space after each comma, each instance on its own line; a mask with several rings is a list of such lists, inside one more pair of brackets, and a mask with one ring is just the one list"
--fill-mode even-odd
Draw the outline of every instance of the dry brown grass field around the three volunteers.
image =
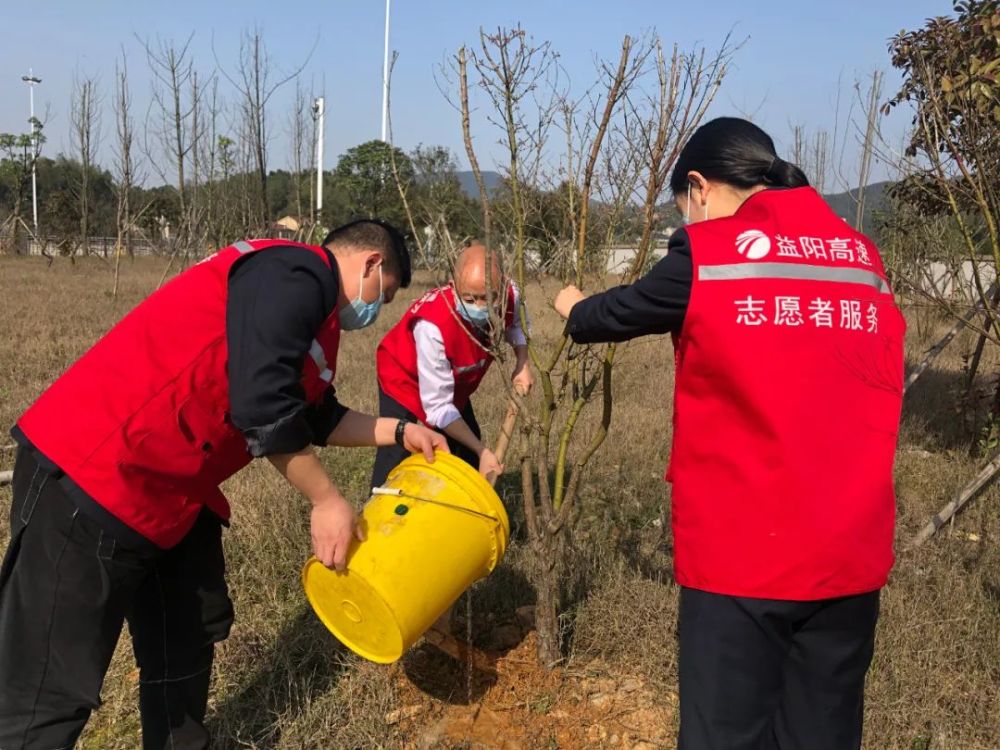
[[[0, 427], [156, 285], [165, 261], [0, 258]], [[373, 329], [345, 336], [341, 399], [375, 408], [374, 348], [418, 279]], [[553, 284], [528, 290], [539, 335], [559, 324], [545, 302]], [[908, 359], [918, 359], [948, 323], [908, 309]], [[866, 748], [995, 750], [1000, 747], [1000, 489], [994, 487], [919, 550], [916, 530], [977, 470], [957, 398], [963, 352], [954, 342], [908, 395], [897, 461], [898, 563], [883, 596], [868, 682]], [[1000, 370], [989, 351], [984, 381]], [[494, 368], [475, 403], [487, 435], [503, 409]], [[299, 570], [309, 555], [305, 501], [268, 465], [252, 465], [225, 488], [234, 518], [226, 535], [237, 621], [221, 647], [209, 721], [221, 748], [659, 748], [673, 746], [675, 620], [669, 533], [661, 533], [669, 490], [661, 478], [670, 442], [670, 343], [626, 349], [615, 376], [610, 439], [592, 464], [578, 519], [565, 618], [566, 660], [552, 672], [533, 661], [525, 555], [518, 540], [518, 481], [499, 491], [515, 542], [502, 567], [471, 592], [471, 633], [504, 656], [495, 673], [466, 669], [418, 646], [399, 664], [377, 666], [347, 653], [308, 608]], [[720, 435], [720, 440], [725, 436]], [[0, 444], [9, 443], [0, 440]], [[515, 445], [513, 450], [517, 451]], [[345, 493], [361, 502], [373, 453], [326, 450]], [[0, 469], [14, 454], [0, 453]], [[849, 467], [845, 467], [849, 470]], [[10, 488], [0, 489], [6, 545]], [[520, 608], [520, 612], [518, 609]], [[460, 618], [466, 606], [457, 607]], [[459, 629], [465, 632], [464, 623]], [[104, 686], [104, 705], [85, 748], [136, 748], [137, 672], [127, 634]], [[402, 711], [400, 711], [402, 709]]]

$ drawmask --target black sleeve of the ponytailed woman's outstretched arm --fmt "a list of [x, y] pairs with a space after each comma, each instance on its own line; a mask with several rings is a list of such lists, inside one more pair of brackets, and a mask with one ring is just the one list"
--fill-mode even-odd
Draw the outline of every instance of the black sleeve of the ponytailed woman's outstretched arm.
[[678, 229], [667, 254], [634, 284], [608, 289], [573, 306], [566, 330], [578, 344], [627, 341], [679, 332], [691, 298], [691, 248]]

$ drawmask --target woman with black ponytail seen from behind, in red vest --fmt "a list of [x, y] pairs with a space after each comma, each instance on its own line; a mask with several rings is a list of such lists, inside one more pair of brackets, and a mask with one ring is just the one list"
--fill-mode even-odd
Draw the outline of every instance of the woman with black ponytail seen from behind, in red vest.
[[874, 243], [756, 125], [700, 127], [670, 187], [686, 226], [650, 273], [555, 307], [580, 344], [673, 336], [678, 746], [854, 750], [905, 323]]

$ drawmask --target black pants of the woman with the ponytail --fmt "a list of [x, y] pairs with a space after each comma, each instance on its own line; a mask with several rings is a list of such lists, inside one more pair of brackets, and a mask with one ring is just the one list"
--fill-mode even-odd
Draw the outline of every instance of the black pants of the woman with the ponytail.
[[681, 589], [679, 750], [859, 748], [878, 608]]

